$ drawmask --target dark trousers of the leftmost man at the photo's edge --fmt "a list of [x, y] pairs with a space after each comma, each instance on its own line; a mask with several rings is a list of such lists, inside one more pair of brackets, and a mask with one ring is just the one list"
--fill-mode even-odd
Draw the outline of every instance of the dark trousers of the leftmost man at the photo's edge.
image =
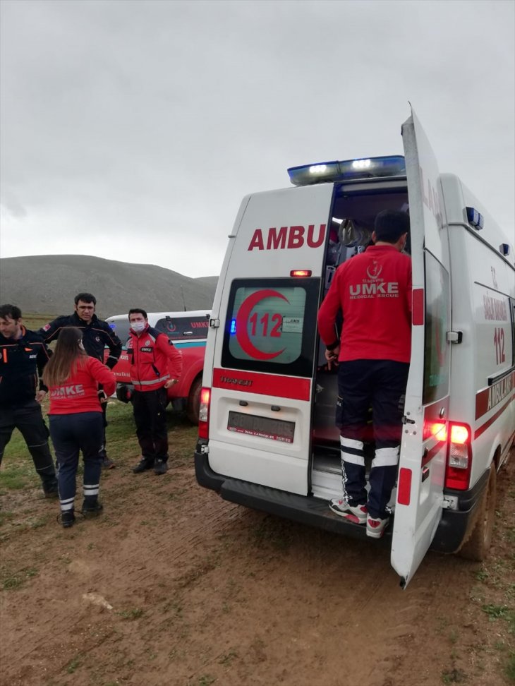
[[15, 428], [23, 435], [44, 491], [54, 491], [57, 484], [56, 470], [48, 445], [47, 425], [38, 402], [28, 400], [15, 407], [0, 405], [0, 464]]

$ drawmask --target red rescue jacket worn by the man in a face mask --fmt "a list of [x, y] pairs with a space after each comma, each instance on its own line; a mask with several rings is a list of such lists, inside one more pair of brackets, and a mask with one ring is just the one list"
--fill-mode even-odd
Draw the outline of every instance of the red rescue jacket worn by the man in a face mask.
[[129, 330], [127, 354], [134, 390], [157, 390], [169, 379], [178, 379], [183, 357], [166, 334], [147, 326], [140, 335]]

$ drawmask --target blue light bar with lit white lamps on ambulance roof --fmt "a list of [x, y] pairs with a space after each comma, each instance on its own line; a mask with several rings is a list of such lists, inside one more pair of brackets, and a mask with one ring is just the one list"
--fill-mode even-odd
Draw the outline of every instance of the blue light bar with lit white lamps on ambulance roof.
[[303, 164], [302, 167], [290, 167], [288, 174], [293, 186], [311, 186], [313, 183], [405, 176], [406, 164], [401, 155], [363, 157], [360, 160], [344, 160], [343, 162]]

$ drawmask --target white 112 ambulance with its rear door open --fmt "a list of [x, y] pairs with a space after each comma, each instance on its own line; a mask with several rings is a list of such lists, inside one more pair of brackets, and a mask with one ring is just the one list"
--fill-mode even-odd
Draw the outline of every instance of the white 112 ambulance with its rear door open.
[[317, 310], [377, 213], [408, 211], [412, 357], [382, 539], [405, 588], [428, 548], [482, 560], [490, 546], [515, 437], [515, 264], [513, 229], [439, 172], [414, 112], [402, 140], [404, 157], [293, 167], [294, 188], [243, 199], [207, 335], [195, 471], [226, 500], [365, 537], [328, 507], [342, 493], [337, 377]]

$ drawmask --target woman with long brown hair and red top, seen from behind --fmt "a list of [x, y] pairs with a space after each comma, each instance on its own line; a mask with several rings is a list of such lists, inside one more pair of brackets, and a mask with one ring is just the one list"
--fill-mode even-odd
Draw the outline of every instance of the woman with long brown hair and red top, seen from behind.
[[[98, 501], [104, 435], [101, 403], [114, 393], [116, 381], [107, 366], [87, 355], [82, 332], [76, 327], [66, 327], [59, 334], [43, 378], [50, 397], [50, 437], [58, 466], [61, 524], [68, 528], [75, 522], [73, 501], [80, 451], [84, 460], [82, 513], [87, 517], [102, 511]], [[104, 390], [99, 391], [99, 384]]]

